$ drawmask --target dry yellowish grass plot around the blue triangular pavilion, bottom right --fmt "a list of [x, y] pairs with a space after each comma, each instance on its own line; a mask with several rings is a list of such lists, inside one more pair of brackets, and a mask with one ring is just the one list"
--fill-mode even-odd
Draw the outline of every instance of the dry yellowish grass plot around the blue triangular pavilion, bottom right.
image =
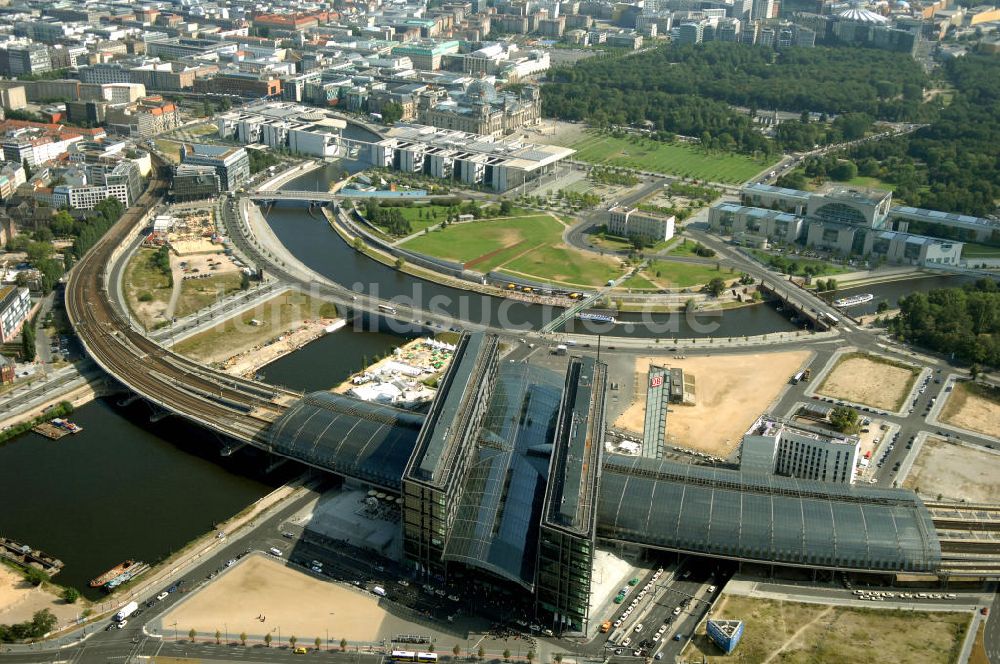
[[743, 638], [731, 655], [702, 625], [685, 650], [687, 661], [709, 664], [950, 664], [958, 658], [969, 614], [800, 604], [727, 596], [713, 618], [739, 619]]

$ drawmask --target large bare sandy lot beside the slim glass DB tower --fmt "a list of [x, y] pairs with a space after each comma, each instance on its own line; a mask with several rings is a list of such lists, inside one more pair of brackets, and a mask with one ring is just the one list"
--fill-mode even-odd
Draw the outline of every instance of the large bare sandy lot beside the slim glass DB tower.
[[718, 355], [675, 360], [636, 360], [635, 400], [615, 426], [642, 433], [646, 416], [646, 373], [650, 364], [679, 367], [695, 377], [697, 403], [675, 405], [667, 416], [667, 440], [725, 457], [809, 358], [808, 351]]

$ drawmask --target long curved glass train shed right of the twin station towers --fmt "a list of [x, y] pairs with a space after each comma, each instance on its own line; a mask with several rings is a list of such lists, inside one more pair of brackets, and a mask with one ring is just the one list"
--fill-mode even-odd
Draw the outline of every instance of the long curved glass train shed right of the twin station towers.
[[930, 514], [911, 491], [638, 457], [605, 464], [597, 536], [813, 568], [934, 572], [941, 562]]

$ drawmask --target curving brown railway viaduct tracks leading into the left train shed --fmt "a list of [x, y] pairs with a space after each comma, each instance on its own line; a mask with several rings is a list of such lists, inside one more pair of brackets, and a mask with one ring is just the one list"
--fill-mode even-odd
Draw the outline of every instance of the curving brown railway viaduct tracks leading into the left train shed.
[[236, 378], [172, 353], [134, 329], [107, 291], [107, 268], [146, 212], [163, 200], [163, 162], [136, 205], [87, 252], [70, 274], [66, 310], [87, 354], [129, 390], [221, 434], [264, 446], [264, 431], [301, 396]]

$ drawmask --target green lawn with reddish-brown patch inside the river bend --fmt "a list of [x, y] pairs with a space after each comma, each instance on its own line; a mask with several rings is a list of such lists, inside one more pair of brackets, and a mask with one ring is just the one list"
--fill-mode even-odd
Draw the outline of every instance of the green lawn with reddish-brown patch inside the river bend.
[[569, 285], [599, 286], [621, 274], [613, 258], [562, 244], [562, 222], [547, 214], [455, 224], [419, 235], [404, 246], [465, 264], [477, 272], [502, 269]]

